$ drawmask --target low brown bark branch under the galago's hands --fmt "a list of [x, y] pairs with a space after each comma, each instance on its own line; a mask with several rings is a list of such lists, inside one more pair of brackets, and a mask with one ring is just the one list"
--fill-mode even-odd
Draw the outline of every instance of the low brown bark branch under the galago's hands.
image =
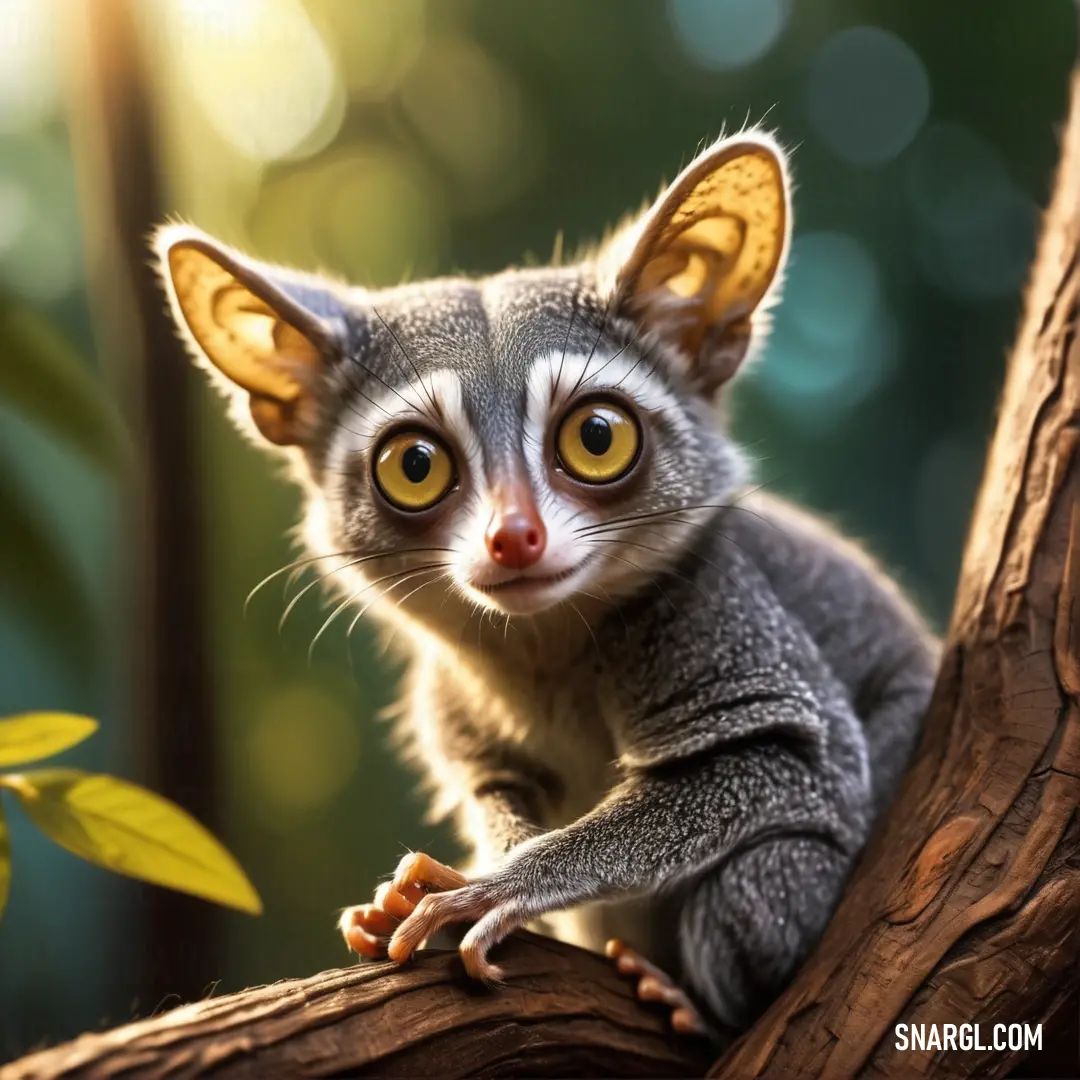
[[[363, 964], [217, 1000], [24, 1057], [0, 1080], [124, 1077], [700, 1077], [603, 957], [531, 934], [504, 948], [508, 985], [471, 984], [456, 953]], [[500, 962], [502, 960], [500, 959]]]

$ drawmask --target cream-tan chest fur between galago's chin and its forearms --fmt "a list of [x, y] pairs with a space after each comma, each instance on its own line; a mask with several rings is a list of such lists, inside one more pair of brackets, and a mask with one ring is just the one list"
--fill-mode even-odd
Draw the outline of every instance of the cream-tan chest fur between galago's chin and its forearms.
[[499, 771], [505, 747], [553, 781], [538, 808], [543, 828], [592, 810], [621, 779], [612, 739], [622, 728], [618, 688], [593, 636], [604, 633], [604, 613], [582, 607], [581, 619], [559, 611], [504, 625], [470, 622], [453, 599], [428, 604], [432, 610], [379, 615], [415, 646], [404, 718], [441, 807], [468, 801], [483, 770]]

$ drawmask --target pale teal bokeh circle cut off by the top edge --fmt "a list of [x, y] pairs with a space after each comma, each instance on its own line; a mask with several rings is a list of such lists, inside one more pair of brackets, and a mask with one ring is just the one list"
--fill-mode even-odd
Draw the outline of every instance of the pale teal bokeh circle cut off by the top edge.
[[669, 0], [675, 37], [702, 67], [728, 70], [760, 59], [783, 32], [791, 0]]

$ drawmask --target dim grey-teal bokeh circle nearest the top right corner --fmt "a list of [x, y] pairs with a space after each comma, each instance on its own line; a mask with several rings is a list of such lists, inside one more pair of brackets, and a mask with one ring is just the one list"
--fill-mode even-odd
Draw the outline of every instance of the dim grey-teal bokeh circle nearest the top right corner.
[[854, 165], [881, 165], [915, 137], [930, 110], [930, 78], [918, 54], [873, 26], [841, 30], [814, 57], [807, 83], [810, 122]]

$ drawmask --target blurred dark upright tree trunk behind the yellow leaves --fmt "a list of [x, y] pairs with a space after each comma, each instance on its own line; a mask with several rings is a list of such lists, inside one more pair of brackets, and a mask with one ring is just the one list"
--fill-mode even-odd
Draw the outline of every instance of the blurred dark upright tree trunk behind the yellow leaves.
[[[166, 212], [152, 87], [131, 0], [71, 0], [70, 127], [98, 350], [138, 472], [126, 509], [126, 620], [141, 779], [217, 825], [215, 702], [189, 363], [164, 313], [147, 239]], [[144, 887], [140, 1008], [200, 997], [220, 972], [212, 905]]]

